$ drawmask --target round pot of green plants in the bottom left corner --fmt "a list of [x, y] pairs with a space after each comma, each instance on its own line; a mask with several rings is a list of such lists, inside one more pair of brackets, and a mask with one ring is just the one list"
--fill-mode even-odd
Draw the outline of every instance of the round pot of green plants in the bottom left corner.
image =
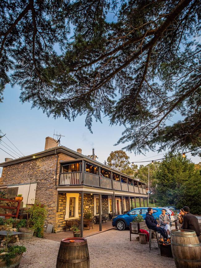
[[11, 242], [10, 232], [7, 232], [6, 243], [3, 248], [0, 249], [0, 267], [1, 268], [18, 268], [22, 254], [26, 251], [24, 246], [11, 245], [8, 246]]

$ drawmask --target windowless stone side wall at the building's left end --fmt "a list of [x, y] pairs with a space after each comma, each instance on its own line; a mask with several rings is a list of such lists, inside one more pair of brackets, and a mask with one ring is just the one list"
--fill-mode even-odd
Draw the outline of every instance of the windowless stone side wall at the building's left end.
[[[74, 158], [69, 155], [58, 153], [57, 184], [60, 168], [59, 161], [73, 159]], [[44, 204], [48, 211], [45, 225], [52, 223], [55, 227], [55, 231], [60, 231], [62, 229], [61, 224], [64, 223], [61, 223], [61, 219], [58, 222], [56, 221], [56, 218], [61, 218], [60, 212], [57, 212], [58, 192], [55, 186], [56, 162], [57, 155], [47, 155], [3, 167], [0, 185], [30, 183], [30, 178], [31, 182], [37, 182], [35, 199]]]

